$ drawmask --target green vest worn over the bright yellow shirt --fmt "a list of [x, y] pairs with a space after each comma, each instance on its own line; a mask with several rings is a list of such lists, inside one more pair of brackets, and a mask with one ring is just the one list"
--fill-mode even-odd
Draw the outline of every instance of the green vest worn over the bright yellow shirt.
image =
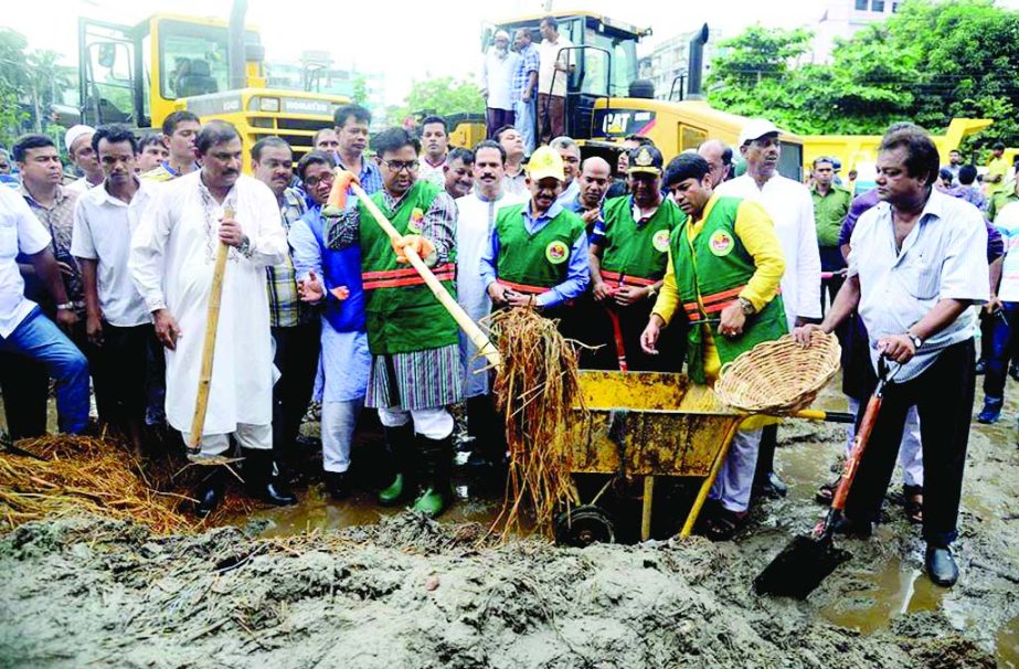
[[[687, 219], [673, 232], [672, 267], [683, 311], [690, 321], [718, 318], [746, 287], [756, 272], [753, 256], [736, 235], [736, 212], [740, 198], [712, 198], [708, 217], [691, 242]], [[712, 326], [712, 329], [717, 329]], [[736, 338], [714, 337], [722, 364], [754, 348], [762, 341], [778, 339], [787, 332], [782, 296], [776, 295], [760, 312], [746, 317], [743, 334]], [[687, 373], [696, 383], [705, 383], [704, 333], [701, 327], [690, 328], [687, 347]]]

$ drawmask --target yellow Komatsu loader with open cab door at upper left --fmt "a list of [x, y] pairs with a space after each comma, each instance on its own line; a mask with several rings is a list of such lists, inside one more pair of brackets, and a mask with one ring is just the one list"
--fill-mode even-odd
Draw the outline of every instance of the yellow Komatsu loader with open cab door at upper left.
[[331, 127], [348, 99], [267, 88], [265, 50], [244, 25], [245, 10], [235, 0], [229, 22], [174, 14], [137, 25], [79, 19], [82, 123], [158, 131], [170, 113], [187, 109], [236, 126], [245, 153], [270, 135], [287, 140], [295, 158], [309, 151], [315, 132]]

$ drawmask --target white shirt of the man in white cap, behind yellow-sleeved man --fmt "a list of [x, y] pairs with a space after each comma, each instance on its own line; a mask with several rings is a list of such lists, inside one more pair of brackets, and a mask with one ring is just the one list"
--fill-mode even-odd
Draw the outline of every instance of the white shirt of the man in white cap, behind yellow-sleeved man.
[[797, 316], [821, 317], [821, 258], [814, 225], [814, 200], [806, 185], [775, 174], [764, 188], [743, 174], [719, 185], [720, 195], [760, 202], [775, 221], [775, 234], [785, 256], [782, 301], [789, 329]]

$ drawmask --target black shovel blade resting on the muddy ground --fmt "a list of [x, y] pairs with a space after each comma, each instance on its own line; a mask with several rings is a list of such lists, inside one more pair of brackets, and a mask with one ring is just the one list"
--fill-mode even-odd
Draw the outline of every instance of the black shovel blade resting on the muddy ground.
[[836, 548], [830, 538], [797, 537], [754, 578], [754, 591], [805, 599], [849, 558], [849, 552]]

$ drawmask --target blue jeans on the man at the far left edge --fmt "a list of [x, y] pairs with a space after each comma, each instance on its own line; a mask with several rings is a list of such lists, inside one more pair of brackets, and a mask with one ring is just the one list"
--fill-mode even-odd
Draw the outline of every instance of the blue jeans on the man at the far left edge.
[[0, 352], [38, 360], [56, 379], [56, 415], [60, 431], [78, 434], [88, 423], [88, 362], [60, 328], [32, 309], [10, 337], [0, 337]]

